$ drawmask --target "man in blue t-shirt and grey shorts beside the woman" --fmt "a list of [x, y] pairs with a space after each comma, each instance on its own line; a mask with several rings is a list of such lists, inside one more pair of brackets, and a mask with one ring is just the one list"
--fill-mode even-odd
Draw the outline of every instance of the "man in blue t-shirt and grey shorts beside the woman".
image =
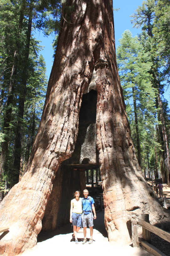
[[[96, 219], [96, 212], [94, 208], [94, 200], [92, 197], [88, 196], [88, 190], [83, 190], [84, 197], [82, 198], [82, 226], [83, 226], [83, 234], [84, 239], [82, 244], [85, 244], [87, 242], [86, 239], [86, 231], [87, 231], [87, 222], [90, 229], [90, 240], [89, 244], [93, 243], [93, 213], [94, 213], [94, 219]], [[93, 210], [93, 213], [92, 213]]]

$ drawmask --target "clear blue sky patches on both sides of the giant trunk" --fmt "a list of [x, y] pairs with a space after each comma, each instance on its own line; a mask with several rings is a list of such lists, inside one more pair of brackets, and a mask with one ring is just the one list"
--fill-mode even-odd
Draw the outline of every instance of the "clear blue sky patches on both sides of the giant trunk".
[[[130, 22], [131, 18], [129, 17], [131, 14], [135, 12], [138, 6], [141, 6], [143, 0], [113, 0], [113, 8], [118, 9], [119, 11], [114, 11], [114, 30], [115, 30], [115, 44], [119, 45], [119, 39], [122, 36], [122, 33], [129, 29], [132, 33], [132, 36], [135, 37], [141, 31], [139, 29], [132, 28], [132, 24]], [[42, 33], [38, 32], [36, 38], [41, 41], [41, 45], [45, 46], [44, 50], [41, 51], [41, 54], [45, 58], [46, 69], [47, 69], [47, 77], [50, 77], [50, 72], [53, 64], [53, 49], [52, 49], [52, 41], [54, 36], [44, 37]]]

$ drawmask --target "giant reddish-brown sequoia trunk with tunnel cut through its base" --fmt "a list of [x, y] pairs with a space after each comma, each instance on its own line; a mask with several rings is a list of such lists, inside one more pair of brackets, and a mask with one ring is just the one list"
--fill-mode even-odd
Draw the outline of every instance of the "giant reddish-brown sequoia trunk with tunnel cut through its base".
[[[71, 10], [68, 15], [68, 9]], [[67, 0], [40, 127], [27, 172], [0, 205], [1, 253], [36, 244], [69, 219], [72, 191], [100, 166], [109, 241], [130, 242], [127, 215], [167, 224], [130, 138], [114, 47], [111, 0]], [[62, 198], [62, 200], [61, 200]]]

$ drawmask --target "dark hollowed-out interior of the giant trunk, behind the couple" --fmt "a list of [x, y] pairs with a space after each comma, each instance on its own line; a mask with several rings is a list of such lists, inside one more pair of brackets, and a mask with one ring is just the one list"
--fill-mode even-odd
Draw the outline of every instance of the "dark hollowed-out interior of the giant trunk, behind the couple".
[[63, 161], [56, 172], [42, 220], [42, 231], [55, 230], [68, 223], [73, 193], [79, 190], [83, 196], [83, 190], [86, 188], [86, 170], [99, 168], [96, 147], [96, 105], [95, 90], [83, 94], [75, 149], [72, 156]]

